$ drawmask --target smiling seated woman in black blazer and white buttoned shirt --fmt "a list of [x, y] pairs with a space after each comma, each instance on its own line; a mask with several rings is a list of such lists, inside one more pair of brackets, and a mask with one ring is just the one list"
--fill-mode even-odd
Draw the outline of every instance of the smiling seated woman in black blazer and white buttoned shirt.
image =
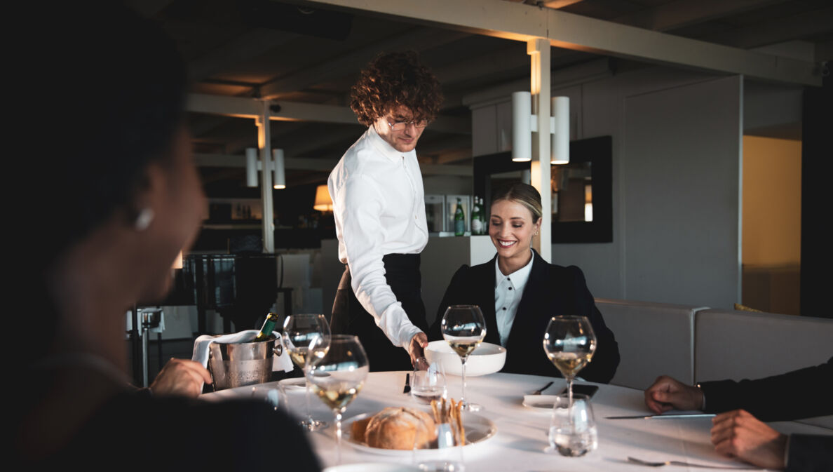
[[452, 304], [476, 304], [486, 319], [486, 343], [506, 348], [501, 372], [560, 377], [546, 358], [541, 340], [546, 324], [558, 315], [590, 319], [598, 347], [581, 378], [610, 382], [619, 365], [619, 348], [581, 269], [547, 264], [532, 249], [541, 229], [541, 194], [526, 183], [498, 188], [491, 197], [489, 236], [497, 254], [486, 264], [463, 265], [446, 289], [431, 339], [442, 339], [440, 322]]

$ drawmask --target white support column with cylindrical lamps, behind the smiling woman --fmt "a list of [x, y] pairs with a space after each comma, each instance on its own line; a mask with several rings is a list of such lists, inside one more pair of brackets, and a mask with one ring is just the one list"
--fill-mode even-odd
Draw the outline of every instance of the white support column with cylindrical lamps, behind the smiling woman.
[[536, 115], [538, 131], [532, 133], [531, 185], [541, 192], [541, 233], [532, 240], [532, 247], [541, 257], [552, 259], [551, 198], [550, 194], [550, 42], [545, 38], [526, 43], [531, 58], [530, 84], [532, 113]]

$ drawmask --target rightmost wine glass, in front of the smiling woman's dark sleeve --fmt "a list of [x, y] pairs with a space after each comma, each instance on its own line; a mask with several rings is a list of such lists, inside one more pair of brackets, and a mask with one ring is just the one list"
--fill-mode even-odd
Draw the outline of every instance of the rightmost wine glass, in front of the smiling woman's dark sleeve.
[[546, 325], [544, 351], [567, 379], [567, 396], [572, 403], [572, 382], [596, 352], [596, 334], [584, 316], [554, 316]]

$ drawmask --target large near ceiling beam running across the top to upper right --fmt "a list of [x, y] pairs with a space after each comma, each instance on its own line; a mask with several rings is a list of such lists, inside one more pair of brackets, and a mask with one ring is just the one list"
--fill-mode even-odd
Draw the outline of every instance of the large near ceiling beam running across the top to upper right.
[[821, 86], [821, 76], [815, 72], [814, 63], [680, 38], [522, 3], [502, 0], [314, 0], [308, 3], [360, 10], [368, 15], [412, 18], [417, 23], [525, 43], [532, 38], [547, 38], [556, 48], [716, 73], [743, 74], [768, 81]]

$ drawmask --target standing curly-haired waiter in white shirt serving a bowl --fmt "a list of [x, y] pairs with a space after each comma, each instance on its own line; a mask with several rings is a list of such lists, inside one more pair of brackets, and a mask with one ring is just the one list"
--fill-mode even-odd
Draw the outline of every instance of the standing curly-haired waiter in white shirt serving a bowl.
[[367, 131], [327, 181], [346, 264], [332, 332], [357, 335], [372, 370], [411, 369], [428, 344], [419, 270], [428, 227], [414, 148], [440, 109], [440, 83], [416, 53], [385, 53], [351, 95]]

